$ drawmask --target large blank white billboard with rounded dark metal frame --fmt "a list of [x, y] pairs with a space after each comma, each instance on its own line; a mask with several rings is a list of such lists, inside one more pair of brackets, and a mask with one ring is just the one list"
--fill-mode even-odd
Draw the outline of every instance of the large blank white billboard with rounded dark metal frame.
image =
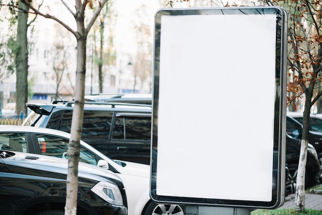
[[[249, 22], [241, 22], [235, 26], [235, 23], [238, 23], [240, 19], [245, 19]], [[271, 25], [272, 19], [273, 27]], [[227, 21], [227, 25], [225, 23], [223, 24], [223, 22], [221, 22], [222, 20], [224, 22]], [[266, 22], [266, 20], [269, 21]], [[229, 24], [233, 25], [232, 29], [229, 29]], [[270, 27], [266, 27], [266, 25]], [[192, 28], [189, 29], [189, 27]], [[266, 38], [268, 41], [267, 43], [274, 42], [273, 47], [271, 44], [267, 45], [266, 41], [262, 41], [265, 40], [265, 35], [262, 32], [258, 32], [258, 27], [267, 30], [267, 32], [273, 30], [273, 38]], [[243, 31], [243, 29], [249, 30]], [[225, 37], [221, 36], [222, 32], [229, 30], [231, 33], [224, 34]], [[200, 31], [204, 32], [200, 33]], [[182, 32], [186, 34], [181, 34]], [[242, 37], [241, 34], [247, 33], [249, 33], [249, 35]], [[210, 34], [210, 36], [208, 37], [207, 34]], [[231, 36], [231, 34], [235, 35]], [[254, 34], [259, 36], [263, 35], [263, 38], [252, 39]], [[183, 37], [183, 35], [187, 35], [188, 39]], [[238, 50], [239, 47], [236, 47], [236, 44], [240, 43], [232, 42], [232, 39], [234, 38], [238, 40], [239, 36], [244, 40], [248, 40], [239, 41], [240, 43], [249, 43], [247, 46], [244, 44], [241, 46], [243, 51]], [[178, 37], [181, 39], [178, 40]], [[207, 50], [207, 47], [205, 47], [208, 44], [207, 40], [209, 40], [208, 42], [210, 45], [208, 48], [210, 50]], [[218, 40], [222, 41], [218, 42]], [[257, 41], [258, 44], [254, 44], [256, 42], [253, 43], [253, 41]], [[211, 45], [212, 43], [213, 45]], [[221, 43], [226, 45], [221, 46]], [[231, 43], [232, 45], [230, 45]], [[200, 44], [204, 47], [200, 48]], [[223, 50], [223, 53], [218, 53], [218, 50], [213, 50], [213, 47], [219, 47], [218, 50]], [[267, 50], [265, 48], [267, 48]], [[234, 53], [231, 53], [231, 65], [220, 67], [219, 64], [221, 62], [230, 62], [226, 61], [226, 58], [230, 57], [230, 52], [226, 49], [231, 49], [232, 52], [235, 52], [234, 50], [236, 50], [236, 52], [239, 53], [239, 56], [234, 56]], [[190, 51], [188, 55], [185, 55], [184, 50], [188, 52]], [[196, 53], [197, 51], [198, 53]], [[256, 52], [255, 55], [254, 52]], [[263, 58], [267, 57], [271, 60], [267, 60], [267, 62], [269, 62], [267, 65], [259, 64], [259, 66], [257, 66], [258, 68], [256, 68], [253, 64], [257, 62], [253, 62], [252, 60], [236, 61], [237, 58], [243, 58], [242, 54], [253, 57], [263, 56]], [[182, 55], [187, 59], [181, 59]], [[171, 204], [270, 209], [277, 208], [283, 204], [285, 184], [286, 55], [287, 13], [280, 7], [160, 9], [156, 12], [153, 59], [154, 80], [150, 180], [150, 196], [153, 201]], [[190, 56], [193, 56], [193, 58], [190, 59]], [[212, 59], [212, 56], [216, 56], [216, 58]], [[195, 62], [194, 59], [196, 59]], [[261, 60], [260, 57], [258, 59]], [[265, 61], [263, 62], [265, 63]], [[201, 70], [195, 70], [195, 68], [199, 67]], [[227, 70], [223, 71], [223, 68], [227, 68]], [[231, 119], [229, 117], [225, 118], [220, 116], [228, 116], [231, 114], [231, 112], [224, 112], [226, 109], [222, 108], [223, 105], [229, 107], [227, 109], [229, 111], [234, 110], [231, 109], [231, 106], [234, 105], [237, 112], [239, 111], [238, 109], [241, 108], [240, 105], [236, 106], [236, 96], [227, 100], [224, 100], [225, 97], [220, 97], [220, 101], [216, 100], [220, 94], [225, 94], [224, 91], [228, 91], [228, 94], [232, 93], [230, 90], [232, 87], [226, 87], [231, 79], [226, 78], [222, 79], [221, 82], [216, 81], [214, 86], [208, 86], [211, 82], [207, 82], [208, 79], [214, 80], [219, 76], [227, 77], [227, 75], [231, 75], [230, 71], [236, 70], [236, 68], [241, 68], [240, 74], [242, 75], [238, 77], [238, 81], [233, 83], [235, 83], [235, 85], [240, 83], [241, 86], [243, 86], [243, 92], [239, 92], [238, 96], [245, 97], [245, 100], [247, 101], [243, 104], [245, 108], [242, 109], [241, 114], [243, 114], [243, 111], [245, 114], [250, 113], [248, 118], [243, 118], [242, 116], [240, 120], [249, 119], [249, 122], [247, 122], [249, 124], [247, 126], [242, 126], [242, 122], [238, 120], [236, 121], [236, 118]], [[250, 74], [253, 76], [256, 75], [256, 77], [247, 76], [248, 68], [251, 71]], [[213, 72], [208, 72], [208, 69]], [[253, 73], [252, 69], [254, 70]], [[225, 73], [228, 74], [225, 75]], [[237, 79], [237, 77], [235, 77], [235, 79]], [[192, 81], [196, 86], [191, 85]], [[203, 85], [205, 82], [207, 83], [207, 86]], [[261, 86], [258, 82], [263, 83], [263, 86], [267, 87], [267, 92], [265, 89], [258, 88]], [[254, 89], [249, 87], [249, 85], [253, 84], [257, 88]], [[219, 92], [222, 88], [224, 91]], [[254, 93], [253, 91], [263, 91], [261, 95], [267, 99], [267, 103], [263, 103], [264, 100], [261, 97], [248, 98], [247, 96], [257, 95], [257, 93]], [[191, 100], [189, 101], [190, 98]], [[206, 101], [207, 98], [209, 98], [209, 101]], [[259, 103], [259, 105], [255, 102]], [[256, 108], [260, 105], [265, 106], [263, 110], [266, 111], [267, 114], [262, 113], [262, 116], [267, 116], [263, 117], [263, 122], [258, 120], [258, 118], [261, 117], [261, 112], [254, 110], [254, 104], [256, 104]], [[213, 112], [216, 112], [217, 110], [214, 109], [214, 106], [220, 106], [218, 108], [219, 113], [217, 115], [213, 114]], [[206, 139], [202, 139], [207, 141], [209, 140], [208, 143], [205, 143], [205, 141], [198, 142], [198, 139], [201, 136], [200, 133], [202, 132], [202, 130], [198, 128], [198, 124], [207, 123], [207, 120], [200, 121], [199, 119], [202, 118], [203, 112], [204, 115], [206, 115], [206, 117], [203, 118], [208, 117], [207, 119], [211, 121], [209, 124], [206, 124], [206, 127], [210, 127], [211, 129], [213, 126], [213, 129], [216, 130], [219, 135], [220, 133], [226, 133], [224, 130], [221, 131], [221, 128], [224, 129], [226, 127], [223, 125], [214, 125], [215, 123], [213, 121], [216, 121], [214, 119], [217, 117], [221, 118], [221, 120], [231, 122], [231, 124], [237, 123], [239, 125], [238, 130], [241, 130], [239, 131], [239, 134], [241, 135], [243, 133], [249, 134], [249, 129], [259, 131], [256, 126], [254, 126], [254, 123], [261, 123], [258, 126], [263, 126], [267, 131], [263, 131], [262, 134], [254, 134], [255, 137], [249, 140], [249, 146], [248, 141], [246, 141], [248, 137], [242, 137], [241, 140], [243, 147], [240, 147], [240, 142], [238, 143], [239, 145], [237, 145], [236, 142], [229, 139], [226, 140], [224, 137], [216, 140], [216, 138], [210, 139], [208, 136]], [[188, 121], [185, 114], [189, 113], [191, 115], [197, 114], [196, 118], [189, 118]], [[239, 115], [237, 114], [234, 116]], [[172, 122], [171, 117], [177, 121]], [[175, 125], [175, 123], [180, 121], [180, 119], [182, 119], [183, 122]], [[190, 128], [190, 121], [193, 121], [194, 123], [192, 129]], [[221, 123], [226, 122], [222, 121]], [[176, 129], [177, 131], [174, 131]], [[191, 132], [195, 129], [198, 132]], [[187, 133], [187, 131], [189, 133]], [[209, 131], [211, 130], [207, 130], [208, 133]], [[188, 138], [187, 135], [189, 135]], [[186, 145], [183, 145], [182, 141], [180, 141], [181, 137], [185, 141]], [[261, 146], [255, 146], [255, 144], [257, 144], [256, 138], [258, 137], [262, 138], [258, 139], [258, 145], [261, 144], [261, 141], [265, 142], [262, 147], [265, 150], [266, 148], [269, 149], [266, 150], [267, 153], [265, 153], [264, 150], [262, 152]], [[173, 142], [171, 138], [173, 138]], [[220, 141], [220, 143], [218, 141]], [[195, 145], [195, 148], [191, 147], [193, 144]], [[249, 177], [256, 178], [258, 174], [261, 174], [259, 173], [261, 172], [261, 169], [257, 168], [260, 166], [259, 164], [262, 163], [265, 167], [267, 166], [266, 172], [263, 174], [267, 175], [268, 172], [271, 175], [268, 179], [266, 177], [263, 178], [266, 180], [265, 186], [270, 190], [267, 194], [259, 194], [258, 199], [256, 199], [256, 194], [258, 194], [256, 189], [259, 189], [258, 185], [255, 185], [256, 183], [254, 183], [254, 187], [252, 187], [252, 184], [250, 187], [247, 185], [249, 187], [247, 189], [249, 190], [249, 193], [251, 193], [248, 196], [247, 192], [231, 192], [230, 189], [235, 189], [234, 186], [239, 188], [247, 182], [247, 179], [245, 179], [242, 184], [239, 184], [238, 176], [235, 178], [236, 184], [231, 184], [230, 187], [226, 188], [228, 193], [227, 195], [225, 195], [223, 191], [220, 191], [220, 185], [218, 185], [218, 183], [223, 183], [225, 180], [231, 180], [229, 176], [225, 178], [225, 175], [230, 174], [230, 172], [226, 172], [225, 169], [229, 169], [232, 164], [227, 164], [227, 166], [225, 163], [218, 164], [220, 162], [215, 158], [222, 154], [222, 158], [226, 159], [226, 157], [224, 157], [226, 155], [224, 154], [229, 154], [229, 151], [224, 151], [228, 149], [226, 147], [222, 148], [225, 144], [226, 146], [231, 145], [234, 147], [240, 147], [238, 148], [239, 152], [236, 152], [236, 155], [239, 155], [238, 153], [244, 153], [248, 156], [254, 155], [254, 157], [252, 157], [255, 163], [253, 169], [245, 167], [245, 172], [249, 172]], [[198, 149], [198, 146], [205, 148], [208, 148], [207, 146], [209, 146], [209, 149], [216, 155], [211, 158], [211, 153], [207, 153], [206, 155], [203, 154], [202, 150], [205, 149], [200, 150]], [[252, 152], [249, 154], [249, 149], [253, 150], [254, 146], [256, 148], [254, 153]], [[165, 151], [172, 147], [177, 154], [175, 157], [167, 157]], [[258, 151], [258, 155], [256, 150]], [[262, 157], [259, 155], [264, 155], [262, 156], [263, 160], [261, 160]], [[205, 158], [207, 158], [207, 167], [204, 167]], [[268, 161], [266, 158], [269, 158]], [[173, 159], [174, 163], [171, 163], [171, 159]], [[237, 160], [234, 159], [235, 158], [232, 158], [233, 163], [242, 161], [243, 158], [238, 157]], [[211, 163], [212, 160], [217, 163]], [[177, 164], [181, 161], [181, 164]], [[252, 162], [248, 162], [247, 164], [253, 165]], [[198, 172], [198, 175], [194, 174], [194, 181], [189, 181], [190, 178], [189, 180], [185, 180], [188, 175], [191, 175], [191, 172], [198, 171], [197, 169], [199, 168], [202, 171]], [[211, 169], [211, 171], [213, 170], [214, 172], [209, 173], [208, 169]], [[169, 175], [169, 178], [167, 178], [167, 170], [170, 170], [170, 173], [172, 173], [172, 175]], [[178, 172], [177, 174], [176, 171]], [[230, 171], [237, 170], [232, 169]], [[217, 173], [219, 173], [219, 175], [216, 175]], [[213, 176], [211, 174], [213, 174]], [[247, 178], [248, 176], [243, 175], [244, 178]], [[207, 181], [209, 177], [211, 177], [211, 182], [213, 182], [213, 184], [208, 183], [207, 185], [202, 185], [205, 182], [209, 182]], [[209, 191], [207, 191], [207, 188], [209, 188]], [[218, 190], [218, 194], [216, 189]], [[247, 189], [243, 188], [240, 190]], [[239, 189], [236, 190], [237, 192], [239, 191]], [[254, 192], [254, 194], [252, 194], [252, 192]]]

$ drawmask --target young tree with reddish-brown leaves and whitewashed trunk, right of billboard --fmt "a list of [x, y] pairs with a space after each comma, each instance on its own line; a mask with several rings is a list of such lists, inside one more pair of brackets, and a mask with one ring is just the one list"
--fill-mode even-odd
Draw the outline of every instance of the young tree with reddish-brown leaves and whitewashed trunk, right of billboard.
[[[319, 1], [294, 0], [271, 1], [265, 0], [265, 5], [281, 6], [288, 11], [288, 69], [293, 80], [288, 83], [288, 104], [295, 106], [303, 95], [305, 109], [303, 112], [303, 129], [300, 159], [298, 163], [295, 209], [305, 210], [305, 173], [309, 139], [309, 120], [313, 104], [322, 95], [318, 87], [322, 80], [322, 3]], [[321, 154], [318, 155], [319, 159]]]

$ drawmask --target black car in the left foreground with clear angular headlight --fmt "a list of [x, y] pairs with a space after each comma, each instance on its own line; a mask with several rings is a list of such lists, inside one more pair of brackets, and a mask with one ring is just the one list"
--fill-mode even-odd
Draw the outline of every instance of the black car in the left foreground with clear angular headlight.
[[[3, 215], [63, 215], [67, 159], [0, 150], [0, 211]], [[79, 163], [77, 214], [127, 214], [119, 177]]]

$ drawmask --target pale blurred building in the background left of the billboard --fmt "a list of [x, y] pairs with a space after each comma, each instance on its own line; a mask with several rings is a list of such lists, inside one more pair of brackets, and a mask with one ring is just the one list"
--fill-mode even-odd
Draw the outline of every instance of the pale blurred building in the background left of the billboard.
[[[35, 8], [42, 1], [34, 0]], [[110, 12], [104, 22], [105, 60], [102, 66], [102, 93], [151, 93], [154, 15], [160, 8], [169, 7], [166, 0], [108, 1]], [[68, 4], [68, 3], [67, 3]], [[73, 8], [74, 3], [69, 3]], [[190, 0], [174, 7], [214, 7], [214, 1]], [[59, 0], [45, 1], [43, 13], [55, 15], [76, 30], [71, 13]], [[2, 10], [1, 12], [4, 12]], [[91, 9], [86, 9], [91, 17]], [[103, 11], [102, 11], [103, 12]], [[101, 13], [102, 13], [101, 12]], [[29, 15], [30, 20], [34, 15]], [[89, 18], [88, 18], [89, 19]], [[98, 94], [99, 19], [87, 38], [85, 94]], [[5, 29], [2, 27], [2, 29]], [[57, 22], [38, 16], [28, 28], [31, 97], [29, 102], [50, 103], [70, 100], [75, 94], [76, 39]], [[0, 33], [6, 35], [5, 30]], [[0, 80], [0, 110], [15, 102], [15, 74]]]

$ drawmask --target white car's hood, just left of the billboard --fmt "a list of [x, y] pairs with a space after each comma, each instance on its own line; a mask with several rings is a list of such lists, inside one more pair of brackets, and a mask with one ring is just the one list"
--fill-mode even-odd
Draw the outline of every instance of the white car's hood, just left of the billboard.
[[121, 163], [124, 170], [126, 170], [130, 175], [138, 177], [150, 177], [150, 165], [126, 162], [123, 160], [116, 160], [116, 162]]

